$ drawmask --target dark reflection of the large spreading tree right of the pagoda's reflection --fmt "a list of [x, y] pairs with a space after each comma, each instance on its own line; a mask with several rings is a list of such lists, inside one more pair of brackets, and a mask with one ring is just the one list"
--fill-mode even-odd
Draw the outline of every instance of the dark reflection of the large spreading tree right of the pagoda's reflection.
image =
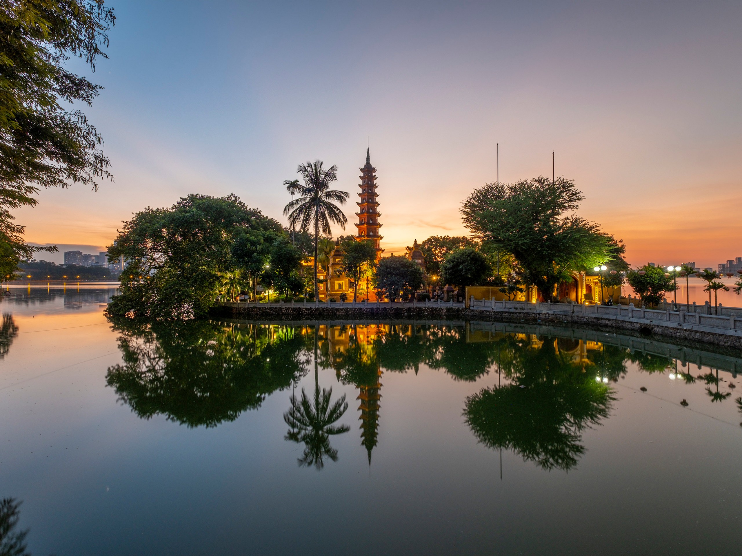
[[[579, 346], [577, 353], [560, 349], [548, 337], [507, 336], [499, 343], [508, 355], [501, 366], [509, 383], [468, 397], [466, 423], [491, 449], [512, 449], [543, 469], [574, 469], [585, 452], [582, 431], [608, 417], [615, 398], [606, 383], [623, 372], [625, 351], [603, 346], [587, 357]], [[599, 372], [585, 372], [588, 366]]]

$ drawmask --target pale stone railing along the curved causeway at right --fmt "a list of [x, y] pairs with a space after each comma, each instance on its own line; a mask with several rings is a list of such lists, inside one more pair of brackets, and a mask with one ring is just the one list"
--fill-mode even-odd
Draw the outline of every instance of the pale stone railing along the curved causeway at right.
[[[672, 304], [667, 304], [672, 305]], [[693, 308], [694, 305], [691, 305]], [[699, 311], [687, 311], [686, 305], [678, 304], [679, 311], [670, 308], [646, 309], [629, 305], [577, 305], [577, 303], [525, 302], [525, 301], [478, 301], [470, 299], [470, 308], [476, 311], [495, 311], [517, 313], [541, 313], [549, 315], [574, 315], [586, 319], [615, 320], [648, 325], [651, 327], [683, 328], [685, 330], [711, 332], [742, 337], [742, 309], [724, 314], [706, 314]], [[720, 311], [721, 312], [721, 311]]]

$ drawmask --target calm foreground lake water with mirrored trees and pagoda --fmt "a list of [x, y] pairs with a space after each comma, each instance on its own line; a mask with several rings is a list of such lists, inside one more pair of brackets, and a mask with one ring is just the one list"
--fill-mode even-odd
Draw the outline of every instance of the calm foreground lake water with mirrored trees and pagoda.
[[0, 302], [0, 497], [30, 552], [740, 552], [738, 354], [489, 323], [137, 327], [105, 319], [113, 293]]

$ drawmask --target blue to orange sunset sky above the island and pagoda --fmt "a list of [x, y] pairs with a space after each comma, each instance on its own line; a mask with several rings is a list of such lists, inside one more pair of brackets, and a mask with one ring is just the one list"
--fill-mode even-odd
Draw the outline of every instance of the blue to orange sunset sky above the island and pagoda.
[[111, 5], [111, 59], [70, 65], [105, 87], [86, 113], [115, 180], [43, 191], [15, 213], [29, 242], [97, 252], [188, 193], [285, 223], [281, 184], [315, 159], [355, 203], [368, 142], [399, 253], [466, 233], [499, 142], [502, 182], [556, 151], [633, 265], [742, 256], [742, 2]]

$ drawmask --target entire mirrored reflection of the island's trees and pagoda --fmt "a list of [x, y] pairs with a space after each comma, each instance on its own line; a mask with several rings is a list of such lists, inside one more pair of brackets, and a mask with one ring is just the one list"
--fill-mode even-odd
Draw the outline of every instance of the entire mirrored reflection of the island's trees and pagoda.
[[[340, 423], [349, 404], [345, 394], [333, 400], [332, 387], [320, 384], [319, 368], [332, 368], [338, 382], [355, 388], [369, 463], [379, 441], [384, 373], [442, 371], [456, 381], [485, 382], [462, 400], [464, 421], [479, 442], [512, 450], [542, 469], [568, 471], [585, 454], [585, 429], [611, 413], [612, 384], [626, 377], [629, 363], [688, 385], [699, 380], [712, 402], [732, 395], [720, 390], [718, 369], [736, 377], [742, 368], [738, 357], [644, 338], [497, 326], [114, 321], [123, 363], [108, 369], [107, 381], [140, 417], [162, 414], [191, 427], [217, 426], [295, 386], [313, 362], [314, 388], [292, 394], [283, 420], [285, 439], [303, 444], [298, 464], [322, 469], [338, 460], [331, 440], [349, 431]], [[717, 370], [694, 377], [691, 361]]]

